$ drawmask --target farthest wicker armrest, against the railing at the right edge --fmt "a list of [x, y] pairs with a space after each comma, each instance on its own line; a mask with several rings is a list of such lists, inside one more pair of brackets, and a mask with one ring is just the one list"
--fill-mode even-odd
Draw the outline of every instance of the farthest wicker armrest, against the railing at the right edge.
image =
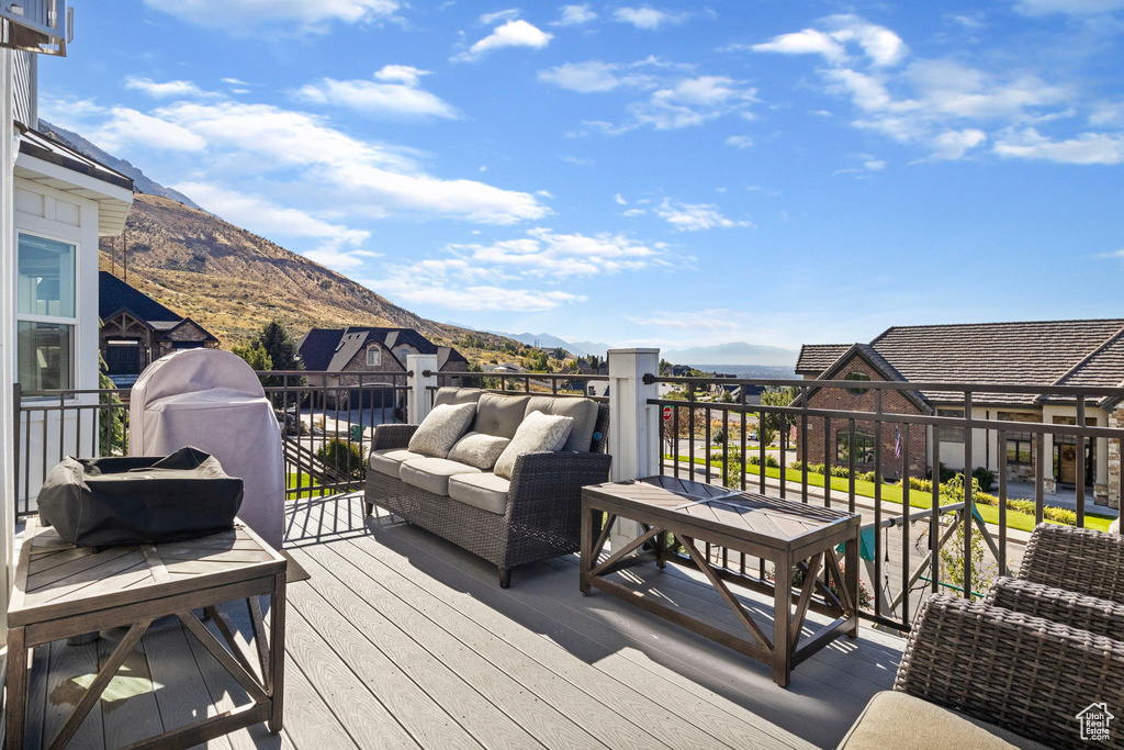
[[1124, 536], [1040, 524], [1018, 578], [1124, 604]]

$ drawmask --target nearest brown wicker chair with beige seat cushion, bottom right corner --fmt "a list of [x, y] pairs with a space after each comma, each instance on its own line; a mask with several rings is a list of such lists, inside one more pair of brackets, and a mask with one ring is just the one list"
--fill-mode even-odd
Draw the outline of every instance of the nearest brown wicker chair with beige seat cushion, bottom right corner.
[[[1124, 642], [948, 596], [931, 596], [894, 690], [879, 693], [840, 748], [1088, 747], [1078, 715], [1124, 695]], [[1098, 747], [1124, 748], [1116, 725]]]

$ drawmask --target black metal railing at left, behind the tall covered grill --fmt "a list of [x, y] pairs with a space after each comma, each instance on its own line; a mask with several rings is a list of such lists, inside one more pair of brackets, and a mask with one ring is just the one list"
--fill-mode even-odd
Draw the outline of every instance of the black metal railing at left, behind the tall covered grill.
[[[259, 372], [281, 430], [288, 499], [362, 488], [380, 424], [406, 421], [411, 373]], [[129, 389], [15, 386], [16, 514], [35, 513], [44, 478], [66, 455], [127, 455]]]

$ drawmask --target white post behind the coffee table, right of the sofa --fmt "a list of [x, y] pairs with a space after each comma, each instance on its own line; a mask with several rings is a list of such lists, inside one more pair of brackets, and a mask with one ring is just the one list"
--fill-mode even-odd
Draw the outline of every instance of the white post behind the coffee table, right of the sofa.
[[[613, 481], [642, 479], [660, 473], [660, 407], [647, 403], [660, 387], [645, 385], [645, 374], [659, 374], [660, 350], [610, 349], [609, 452]], [[609, 546], [627, 544], [640, 535], [640, 524], [617, 522]]]

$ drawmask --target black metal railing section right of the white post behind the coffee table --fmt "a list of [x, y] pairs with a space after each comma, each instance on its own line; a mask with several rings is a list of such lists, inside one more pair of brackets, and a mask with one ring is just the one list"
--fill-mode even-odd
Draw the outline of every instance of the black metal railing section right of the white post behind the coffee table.
[[[1089, 486], [1102, 496], [1121, 494], [1124, 428], [1109, 426], [1109, 416], [1124, 388], [651, 374], [644, 381], [677, 389], [649, 400], [663, 413], [661, 472], [861, 513], [862, 615], [898, 630], [908, 630], [925, 594], [980, 596], [990, 577], [1017, 569], [1035, 524], [1107, 526], [1113, 512], [1094, 512]], [[746, 386], [774, 395], [764, 397], [771, 403], [751, 401]], [[1090, 416], [1096, 425], [1087, 424]], [[962, 445], [942, 446], [942, 428], [953, 428], [946, 434]], [[776, 445], [768, 432], [777, 433]], [[1048, 472], [1048, 442], [1055, 444], [1052, 458], [1061, 445], [1062, 460], [1070, 459], [1063, 468], [1072, 501], [1062, 504], [1071, 508], [1050, 503], [1048, 484], [1059, 478], [1054, 461]], [[1012, 491], [1018, 480], [1012, 460], [1027, 479], [1026, 500]], [[994, 495], [978, 484], [991, 477]], [[732, 572], [769, 575], [761, 560], [717, 548], [708, 553]]]

